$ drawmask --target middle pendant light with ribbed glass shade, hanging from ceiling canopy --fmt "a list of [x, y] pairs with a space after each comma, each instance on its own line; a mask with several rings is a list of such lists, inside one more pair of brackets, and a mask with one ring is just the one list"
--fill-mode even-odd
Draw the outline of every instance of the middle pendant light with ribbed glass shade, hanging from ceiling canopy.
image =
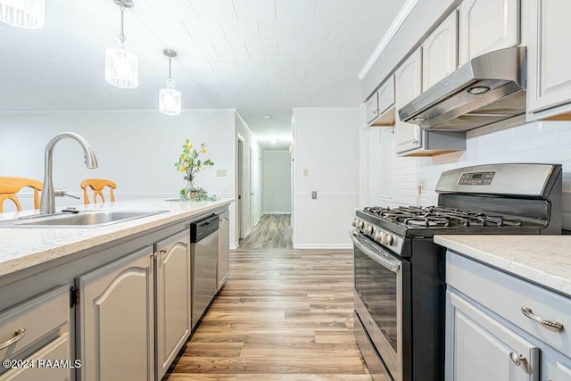
[[135, 88], [139, 84], [139, 59], [128, 50], [123, 34], [123, 12], [134, 4], [131, 0], [113, 0], [113, 3], [121, 9], [121, 32], [116, 46], [105, 51], [105, 80], [115, 87]]

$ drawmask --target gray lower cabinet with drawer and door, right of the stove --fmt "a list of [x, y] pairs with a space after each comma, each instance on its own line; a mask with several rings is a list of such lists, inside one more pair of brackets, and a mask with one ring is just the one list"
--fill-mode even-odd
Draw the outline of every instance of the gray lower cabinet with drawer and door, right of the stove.
[[446, 380], [571, 381], [571, 298], [446, 254]]

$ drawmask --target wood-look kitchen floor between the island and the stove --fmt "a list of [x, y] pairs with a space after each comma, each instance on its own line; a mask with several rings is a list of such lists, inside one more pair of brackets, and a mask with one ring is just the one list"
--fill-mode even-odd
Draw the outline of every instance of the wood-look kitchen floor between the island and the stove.
[[228, 283], [163, 380], [370, 380], [349, 251], [232, 252]]

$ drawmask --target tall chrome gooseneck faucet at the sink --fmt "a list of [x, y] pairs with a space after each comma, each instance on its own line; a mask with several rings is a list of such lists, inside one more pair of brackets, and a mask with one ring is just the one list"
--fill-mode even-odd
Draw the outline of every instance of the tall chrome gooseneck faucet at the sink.
[[40, 214], [54, 214], [55, 213], [55, 198], [54, 198], [54, 180], [52, 178], [52, 168], [53, 168], [53, 156], [54, 156], [54, 146], [57, 142], [65, 137], [70, 137], [76, 140], [83, 152], [86, 154], [86, 167], [88, 169], [97, 168], [97, 159], [95, 158], [95, 153], [91, 149], [91, 145], [87, 143], [87, 140], [74, 133], [74, 132], [62, 132], [57, 134], [55, 137], [47, 142], [46, 145], [46, 155], [44, 162], [44, 188], [42, 190], [42, 198], [39, 203]]

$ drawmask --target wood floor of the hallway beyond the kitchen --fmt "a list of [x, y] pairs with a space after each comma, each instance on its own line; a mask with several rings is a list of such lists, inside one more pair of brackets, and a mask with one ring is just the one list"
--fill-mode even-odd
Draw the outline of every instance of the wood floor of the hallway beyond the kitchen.
[[291, 214], [264, 214], [238, 244], [238, 250], [292, 249]]

